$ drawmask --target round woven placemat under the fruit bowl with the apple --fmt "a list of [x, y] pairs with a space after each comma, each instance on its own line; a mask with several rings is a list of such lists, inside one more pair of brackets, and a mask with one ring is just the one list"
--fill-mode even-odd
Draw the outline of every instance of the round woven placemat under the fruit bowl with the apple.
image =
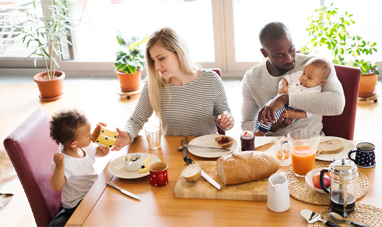
[[[320, 167], [329, 167], [331, 162], [328, 161], [317, 161], [314, 164], [314, 168]], [[367, 177], [359, 172], [357, 177], [357, 188], [356, 188], [356, 199], [363, 197], [368, 188], [369, 188], [369, 180]], [[293, 173], [293, 168], [287, 171], [287, 178], [289, 184], [289, 194], [302, 202], [313, 204], [313, 205], [321, 205], [327, 206], [330, 204], [329, 194], [323, 194], [314, 191], [308, 183], [306, 183], [305, 178], [296, 177]]]

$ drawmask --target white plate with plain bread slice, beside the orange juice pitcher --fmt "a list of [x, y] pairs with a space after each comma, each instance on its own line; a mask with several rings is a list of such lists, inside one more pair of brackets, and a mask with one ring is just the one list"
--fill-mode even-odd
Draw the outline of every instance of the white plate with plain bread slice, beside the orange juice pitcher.
[[316, 159], [333, 161], [342, 157], [347, 158], [349, 151], [355, 149], [355, 145], [349, 140], [335, 136], [323, 136], [317, 147]]

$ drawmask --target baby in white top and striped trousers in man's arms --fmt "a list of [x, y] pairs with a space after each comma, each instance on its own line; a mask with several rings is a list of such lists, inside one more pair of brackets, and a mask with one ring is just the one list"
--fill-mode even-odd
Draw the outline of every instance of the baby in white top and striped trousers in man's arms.
[[[318, 93], [321, 92], [321, 86], [326, 83], [327, 77], [330, 75], [332, 63], [320, 57], [313, 58], [305, 65], [303, 71], [298, 71], [290, 75], [284, 76], [278, 84], [278, 94], [283, 93]], [[303, 110], [293, 109], [288, 105], [284, 105], [276, 110], [276, 121], [280, 117], [293, 118], [294, 122], [299, 118], [309, 118], [312, 113]], [[270, 129], [272, 123], [266, 125], [263, 120], [255, 120], [254, 134], [255, 136], [264, 136]]]

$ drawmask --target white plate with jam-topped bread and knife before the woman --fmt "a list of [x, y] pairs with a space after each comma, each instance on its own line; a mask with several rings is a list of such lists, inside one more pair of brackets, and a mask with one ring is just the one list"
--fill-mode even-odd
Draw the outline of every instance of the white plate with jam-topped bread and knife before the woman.
[[199, 157], [206, 157], [206, 158], [221, 157], [223, 155], [232, 153], [237, 148], [237, 142], [232, 137], [218, 135], [218, 134], [200, 136], [193, 139], [188, 144], [229, 149], [229, 150], [215, 150], [215, 149], [188, 147], [188, 151], [190, 153]]

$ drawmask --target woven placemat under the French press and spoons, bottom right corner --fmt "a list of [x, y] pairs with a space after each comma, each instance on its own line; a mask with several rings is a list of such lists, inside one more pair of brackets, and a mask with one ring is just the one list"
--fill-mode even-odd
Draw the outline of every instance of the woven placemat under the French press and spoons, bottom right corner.
[[[349, 216], [345, 218], [346, 220], [355, 221], [355, 222], [366, 224], [372, 227], [382, 226], [382, 218], [380, 218], [382, 215], [382, 209], [375, 206], [361, 204], [361, 203], [356, 203], [356, 208], [357, 210], [349, 214]], [[321, 219], [334, 222], [329, 217], [328, 207], [322, 208], [316, 213], [322, 214]], [[335, 223], [341, 226], [353, 226], [347, 223], [337, 223], [337, 222]], [[318, 227], [318, 226], [326, 226], [326, 225], [321, 221], [316, 221], [314, 223], [308, 224], [308, 226]]]

